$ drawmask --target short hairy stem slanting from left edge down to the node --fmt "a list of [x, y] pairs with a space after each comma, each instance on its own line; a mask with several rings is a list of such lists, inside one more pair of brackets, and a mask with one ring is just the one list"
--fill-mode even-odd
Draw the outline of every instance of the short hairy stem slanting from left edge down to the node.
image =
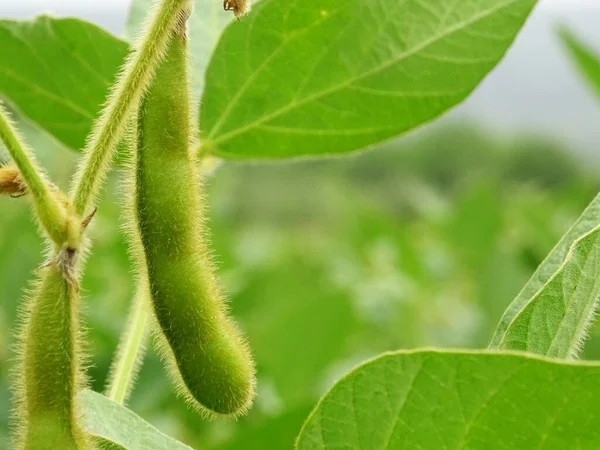
[[50, 191], [42, 177], [32, 152], [21, 142], [16, 128], [8, 117], [8, 112], [0, 103], [0, 140], [8, 152], [27, 185], [42, 227], [50, 239], [61, 246], [67, 239], [66, 212], [57, 197]]

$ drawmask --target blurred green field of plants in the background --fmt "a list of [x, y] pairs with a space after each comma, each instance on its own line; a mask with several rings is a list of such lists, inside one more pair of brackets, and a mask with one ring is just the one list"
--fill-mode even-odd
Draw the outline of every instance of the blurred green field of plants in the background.
[[[66, 188], [76, 156], [22, 126]], [[206, 197], [220, 275], [258, 365], [255, 407], [238, 421], [205, 422], [175, 397], [150, 349], [131, 408], [197, 449], [291, 448], [319, 395], [365, 358], [485, 347], [504, 308], [600, 190], [598, 171], [572, 150], [462, 125], [345, 159], [223, 163]], [[121, 176], [111, 176], [94, 219], [84, 281], [99, 391], [132, 297]], [[0, 198], [0, 448], [16, 312], [42, 249], [27, 199]], [[600, 340], [585, 357], [600, 359]]]

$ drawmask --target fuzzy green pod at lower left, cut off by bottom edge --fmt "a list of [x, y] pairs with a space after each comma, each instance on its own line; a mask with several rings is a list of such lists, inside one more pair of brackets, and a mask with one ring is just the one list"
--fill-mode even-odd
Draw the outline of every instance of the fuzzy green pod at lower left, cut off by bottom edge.
[[16, 382], [16, 448], [82, 450], [75, 395], [84, 384], [78, 327], [79, 292], [57, 264], [25, 302]]

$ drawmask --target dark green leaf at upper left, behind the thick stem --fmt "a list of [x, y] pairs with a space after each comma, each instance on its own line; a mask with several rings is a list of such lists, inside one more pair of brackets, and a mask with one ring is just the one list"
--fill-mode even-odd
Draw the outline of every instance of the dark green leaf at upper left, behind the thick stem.
[[128, 45], [77, 19], [0, 20], [0, 94], [80, 149]]

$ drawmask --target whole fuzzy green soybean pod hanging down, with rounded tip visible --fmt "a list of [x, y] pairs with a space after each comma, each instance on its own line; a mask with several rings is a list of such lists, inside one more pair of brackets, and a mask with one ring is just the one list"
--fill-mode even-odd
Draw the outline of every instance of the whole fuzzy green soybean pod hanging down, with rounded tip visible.
[[201, 412], [238, 415], [254, 397], [254, 363], [206, 242], [186, 41], [182, 26], [139, 110], [135, 215], [159, 344], [178, 390]]

